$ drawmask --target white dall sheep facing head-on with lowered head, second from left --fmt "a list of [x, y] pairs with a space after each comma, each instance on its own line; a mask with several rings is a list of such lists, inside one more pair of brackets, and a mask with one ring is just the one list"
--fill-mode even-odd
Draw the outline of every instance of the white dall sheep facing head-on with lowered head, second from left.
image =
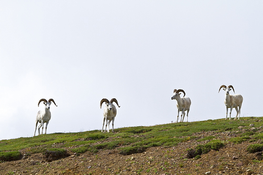
[[[109, 129], [110, 129], [110, 122], [111, 121], [112, 121], [112, 132], [114, 133], [113, 125], [114, 125], [115, 116], [117, 114], [117, 110], [116, 110], [116, 107], [112, 103], [115, 102], [118, 107], [120, 107], [120, 106], [119, 106], [118, 101], [116, 99], [111, 99], [110, 101], [107, 99], [102, 99], [100, 101], [100, 108], [101, 108], [101, 105], [103, 102], [106, 103], [106, 106], [105, 106], [104, 112], [103, 112], [104, 118], [103, 118], [103, 125], [102, 125], [101, 132], [103, 132], [104, 122], [106, 119], [106, 125], [105, 125], [104, 133], [106, 132], [106, 129], [107, 129], [107, 123], [108, 123], [108, 133], [110, 132]], [[108, 120], [109, 120], [109, 122], [108, 122]]]

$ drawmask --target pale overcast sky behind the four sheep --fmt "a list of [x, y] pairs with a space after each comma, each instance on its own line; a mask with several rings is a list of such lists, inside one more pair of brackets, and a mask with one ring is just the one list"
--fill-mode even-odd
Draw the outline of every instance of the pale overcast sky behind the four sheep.
[[[101, 129], [100, 100], [116, 98], [114, 128], [262, 116], [263, 1], [0, 1], [0, 140], [34, 135], [40, 99], [47, 133]], [[230, 94], [234, 94], [233, 91]], [[236, 111], [233, 110], [232, 117]], [[111, 124], [110, 124], [111, 127]]]

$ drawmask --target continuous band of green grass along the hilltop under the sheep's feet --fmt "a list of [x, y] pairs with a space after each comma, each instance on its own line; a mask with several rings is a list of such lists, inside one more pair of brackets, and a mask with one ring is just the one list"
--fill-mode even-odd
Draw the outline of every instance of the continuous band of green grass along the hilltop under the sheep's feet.
[[[257, 119], [263, 119], [263, 117], [258, 117]], [[201, 146], [201, 151], [203, 149], [202, 152], [206, 152], [218, 146], [214, 143], [216, 137], [207, 136], [205, 138], [197, 138], [192, 136], [193, 133], [202, 131], [214, 131], [216, 133], [236, 131], [239, 130], [239, 126], [248, 127], [253, 120], [254, 119], [250, 117], [242, 117], [241, 120], [231, 120], [231, 123], [229, 123], [229, 120], [215, 119], [197, 122], [169, 123], [148, 127], [124, 127], [116, 128], [115, 133], [101, 133], [100, 130], [93, 130], [79, 133], [43, 134], [35, 137], [1, 140], [0, 151], [18, 151], [27, 148], [27, 150], [32, 153], [45, 152], [54, 144], [60, 143], [58, 147], [61, 148], [76, 146], [76, 148], [71, 149], [71, 151], [77, 153], [87, 151], [95, 153], [99, 150], [110, 150], [124, 146], [119, 149], [119, 151], [121, 154], [127, 155], [141, 152], [147, 147], [171, 147], [189, 140], [211, 140], [211, 143], [209, 142], [210, 146]], [[259, 127], [263, 122], [255, 122], [254, 124], [255, 127]], [[240, 137], [230, 139], [229, 141], [238, 144], [249, 139], [253, 141], [263, 140], [263, 134], [248, 130], [248, 132], [241, 134]], [[101, 141], [104, 141], [104, 143], [101, 143]]]

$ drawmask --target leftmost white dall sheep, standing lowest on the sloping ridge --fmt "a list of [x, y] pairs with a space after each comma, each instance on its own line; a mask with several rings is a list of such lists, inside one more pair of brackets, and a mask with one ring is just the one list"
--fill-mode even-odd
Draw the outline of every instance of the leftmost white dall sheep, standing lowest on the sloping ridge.
[[[38, 111], [37, 113], [37, 118], [36, 118], [36, 129], [35, 129], [35, 134], [34, 136], [36, 135], [36, 130], [37, 130], [37, 124], [38, 122], [40, 123], [39, 127], [38, 127], [38, 135], [40, 135], [40, 128], [42, 127], [42, 133], [43, 134], [43, 128], [44, 128], [44, 123], [46, 123], [46, 131], [45, 131], [45, 134], [47, 134], [47, 126], [48, 126], [48, 122], [51, 118], [51, 113], [50, 113], [50, 104], [51, 102], [53, 101], [54, 105], [56, 105], [56, 103], [54, 102], [53, 99], [49, 99], [48, 101], [46, 99], [41, 99], [39, 100], [38, 102], [38, 107], [39, 107], [39, 103], [42, 102], [45, 104], [45, 110], [41, 110], [41, 111]], [[57, 106], [57, 105], [56, 105]]]

